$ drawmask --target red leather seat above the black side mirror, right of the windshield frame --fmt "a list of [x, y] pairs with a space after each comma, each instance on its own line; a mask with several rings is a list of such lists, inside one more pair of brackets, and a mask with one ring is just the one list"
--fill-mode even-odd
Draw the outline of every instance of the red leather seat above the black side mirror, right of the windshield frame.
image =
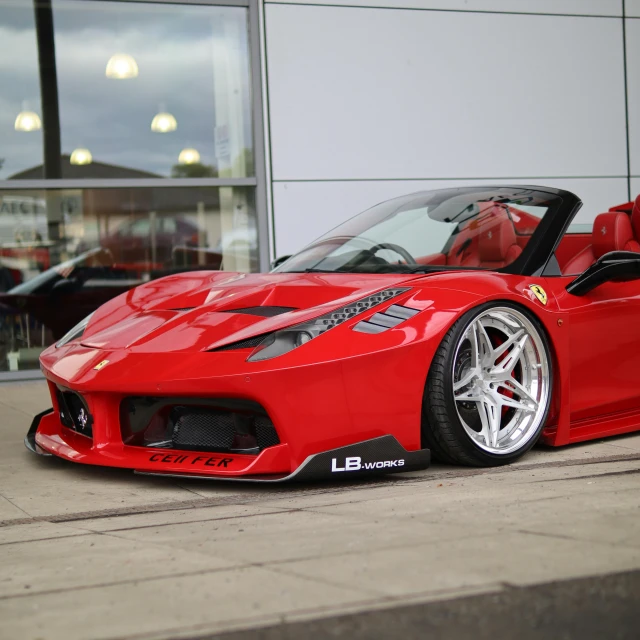
[[[634, 213], [637, 213], [636, 224], [640, 232], [640, 197], [636, 200]], [[640, 253], [640, 243], [634, 236], [632, 220], [626, 213], [611, 211], [597, 216], [593, 222], [591, 245], [585, 247], [569, 260], [563, 269], [563, 273], [565, 275], [582, 273], [598, 258], [610, 251], [636, 251]]]

